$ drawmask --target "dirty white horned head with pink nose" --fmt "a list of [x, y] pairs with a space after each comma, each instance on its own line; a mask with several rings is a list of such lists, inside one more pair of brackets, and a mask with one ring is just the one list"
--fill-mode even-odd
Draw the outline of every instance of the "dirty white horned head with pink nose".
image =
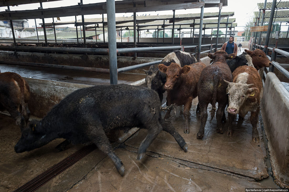
[[253, 84], [245, 84], [245, 83], [231, 83], [229, 81], [224, 81], [228, 84], [227, 87], [227, 95], [229, 98], [229, 106], [227, 111], [231, 114], [238, 114], [241, 105], [243, 105], [244, 101], [249, 97], [255, 95], [259, 89], [251, 87]]

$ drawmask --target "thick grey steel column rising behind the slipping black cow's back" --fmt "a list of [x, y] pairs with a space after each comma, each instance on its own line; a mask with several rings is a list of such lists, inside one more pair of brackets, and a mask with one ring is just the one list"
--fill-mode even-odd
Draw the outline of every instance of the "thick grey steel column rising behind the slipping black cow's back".
[[107, 0], [110, 84], [117, 84], [115, 1]]

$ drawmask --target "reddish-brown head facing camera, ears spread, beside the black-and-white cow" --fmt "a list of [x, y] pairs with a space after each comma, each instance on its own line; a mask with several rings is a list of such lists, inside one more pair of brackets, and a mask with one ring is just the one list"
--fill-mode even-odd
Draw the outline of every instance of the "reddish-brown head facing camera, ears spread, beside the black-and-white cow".
[[166, 83], [164, 88], [166, 90], [172, 90], [175, 85], [181, 83], [182, 74], [187, 74], [190, 71], [190, 66], [180, 67], [176, 63], [172, 63], [170, 66], [165, 66], [164, 64], [159, 65], [161, 72], [166, 74]]

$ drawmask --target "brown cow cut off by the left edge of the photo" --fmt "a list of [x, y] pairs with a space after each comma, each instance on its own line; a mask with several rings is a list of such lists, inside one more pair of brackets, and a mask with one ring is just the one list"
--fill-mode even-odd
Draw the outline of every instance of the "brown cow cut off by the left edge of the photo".
[[26, 127], [30, 111], [28, 83], [17, 73], [0, 73], [0, 110], [7, 109], [21, 131]]

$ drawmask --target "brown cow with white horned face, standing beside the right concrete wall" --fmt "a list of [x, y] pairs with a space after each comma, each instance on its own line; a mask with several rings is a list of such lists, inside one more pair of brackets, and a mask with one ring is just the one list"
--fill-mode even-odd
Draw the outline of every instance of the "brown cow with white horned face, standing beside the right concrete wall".
[[229, 97], [227, 135], [231, 136], [233, 133], [232, 126], [235, 115], [239, 114], [238, 125], [240, 126], [245, 115], [251, 111], [252, 140], [259, 143], [257, 121], [260, 109], [261, 77], [258, 71], [250, 66], [238, 67], [233, 72], [233, 77], [233, 83], [226, 81], [228, 83], [227, 95]]

